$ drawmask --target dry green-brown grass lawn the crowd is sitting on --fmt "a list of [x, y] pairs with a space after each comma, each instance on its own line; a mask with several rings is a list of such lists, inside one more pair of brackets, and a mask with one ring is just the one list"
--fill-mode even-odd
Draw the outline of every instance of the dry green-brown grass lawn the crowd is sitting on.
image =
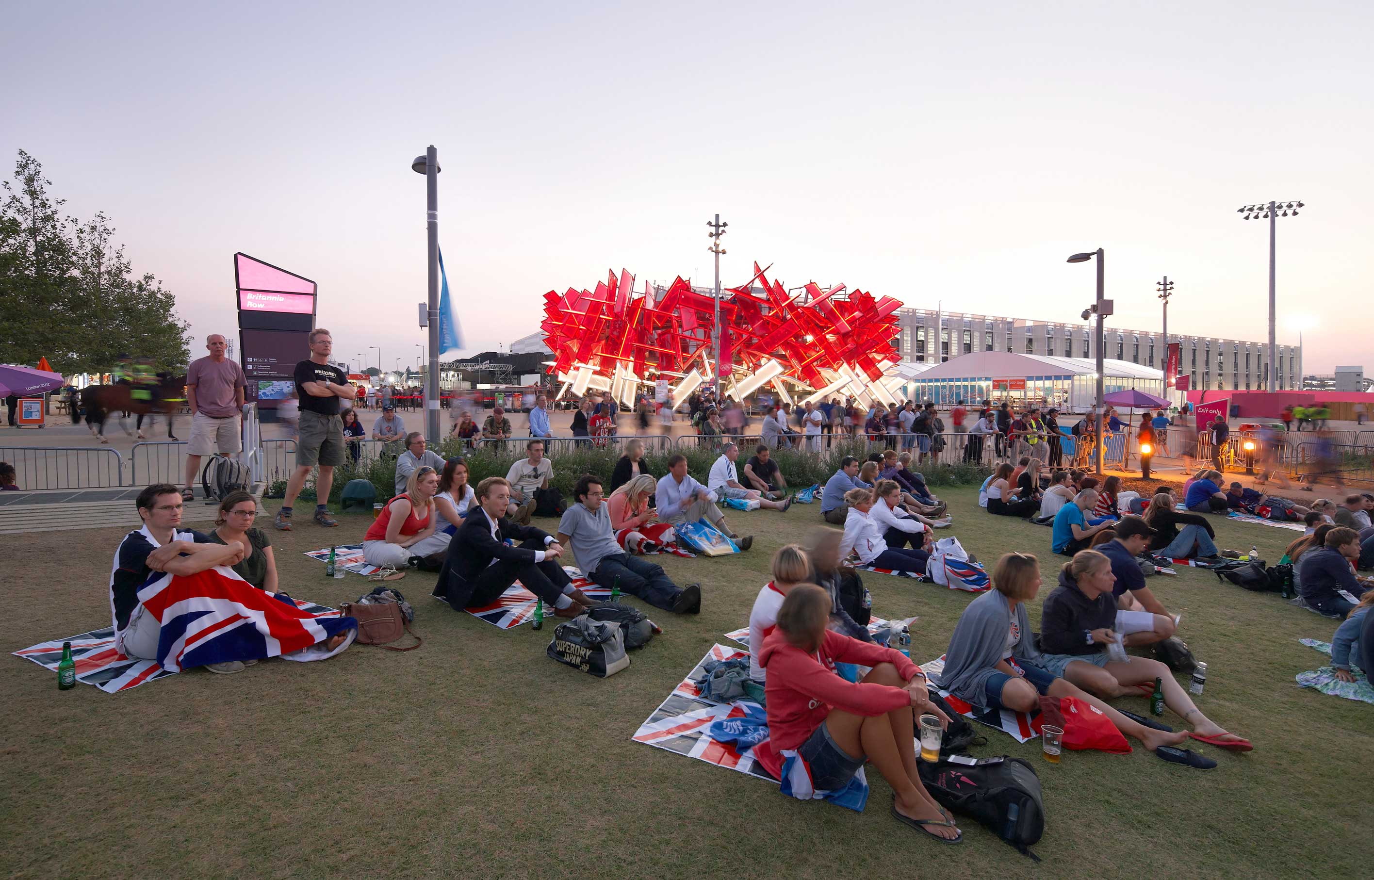
[[[989, 516], [971, 486], [943, 494], [955, 515], [951, 531], [989, 568], [1006, 551], [1040, 555], [1040, 597], [1048, 594], [1063, 560], [1050, 555], [1047, 527]], [[8, 707], [0, 748], [5, 873], [1369, 876], [1374, 707], [1293, 681], [1323, 660], [1297, 640], [1329, 641], [1336, 622], [1201, 570], [1180, 568], [1150, 586], [1183, 614], [1180, 634], [1208, 663], [1201, 708], [1256, 750], [1195, 744], [1219, 761], [1210, 772], [1142, 748], [1069, 752], [1051, 766], [1039, 741], [980, 730], [988, 744], [976, 754], [1020, 755], [1040, 773], [1047, 829], [1039, 866], [971, 820], [962, 822], [958, 848], [926, 840], [890, 818], [877, 773], [868, 809], [856, 814], [631, 743], [706, 648], [747, 622], [772, 551], [804, 540], [819, 524], [819, 507], [730, 519], [756, 535], [754, 549], [724, 560], [666, 559], [675, 579], [702, 583], [703, 611], [654, 612], [665, 633], [607, 680], [547, 659], [550, 626], [502, 632], [455, 614], [429, 599], [434, 575], [416, 572], [398, 583], [425, 637], [409, 653], [359, 645], [327, 663], [192, 671], [120, 695], [58, 692], [52, 674], [10, 658], [0, 684]], [[295, 531], [272, 533], [283, 589], [326, 604], [365, 592], [370, 585], [352, 574], [324, 579], [324, 566], [301, 553], [356, 541], [370, 518], [342, 518], [334, 531], [305, 515], [297, 520]], [[1216, 530], [1220, 546], [1257, 544], [1271, 563], [1297, 534], [1227, 522]], [[21, 604], [0, 623], [5, 651], [107, 625], [106, 583], [121, 534], [7, 540], [5, 593]], [[921, 616], [912, 637], [921, 660], [944, 651], [970, 601], [878, 574], [864, 583], [877, 614]], [[1039, 621], [1039, 601], [1030, 615]], [[1117, 704], [1147, 713], [1143, 697]]]

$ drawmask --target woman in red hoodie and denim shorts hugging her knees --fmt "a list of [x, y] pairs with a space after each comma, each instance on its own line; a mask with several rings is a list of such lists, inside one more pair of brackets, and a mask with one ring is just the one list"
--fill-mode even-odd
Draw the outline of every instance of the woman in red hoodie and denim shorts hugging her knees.
[[[864, 759], [872, 761], [896, 792], [897, 820], [941, 843], [962, 842], [916, 772], [912, 708], [949, 722], [930, 704], [921, 669], [899, 651], [841, 636], [829, 623], [826, 590], [801, 583], [787, 592], [758, 658], [768, 671], [769, 737], [754, 748], [756, 758], [782, 776], [782, 752], [796, 750], [816, 791], [845, 788]], [[853, 684], [835, 673], [837, 660], [872, 671]]]

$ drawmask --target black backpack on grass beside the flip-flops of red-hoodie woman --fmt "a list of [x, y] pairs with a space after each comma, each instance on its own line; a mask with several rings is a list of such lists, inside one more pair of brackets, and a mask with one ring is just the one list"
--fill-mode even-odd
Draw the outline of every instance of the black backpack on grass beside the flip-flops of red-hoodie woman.
[[[971, 763], [963, 763], [963, 762]], [[1020, 758], [941, 756], [937, 763], [916, 762], [921, 781], [941, 806], [971, 815], [1022, 855], [1040, 861], [1028, 847], [1044, 835], [1044, 800], [1040, 777]]]

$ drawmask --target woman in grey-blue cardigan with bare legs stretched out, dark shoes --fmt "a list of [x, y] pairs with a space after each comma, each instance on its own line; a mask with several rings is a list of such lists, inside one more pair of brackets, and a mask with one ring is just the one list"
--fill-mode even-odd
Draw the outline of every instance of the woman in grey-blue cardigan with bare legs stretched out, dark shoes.
[[1046, 669], [1047, 660], [1030, 637], [1025, 605], [1040, 592], [1040, 561], [1033, 555], [1007, 553], [999, 559], [992, 568], [992, 586], [959, 616], [940, 673], [941, 688], [978, 708], [1015, 713], [1033, 713], [1043, 695], [1072, 696], [1095, 706], [1117, 730], [1140, 740], [1150, 751], [1187, 739], [1187, 733], [1167, 733], [1131, 721]]

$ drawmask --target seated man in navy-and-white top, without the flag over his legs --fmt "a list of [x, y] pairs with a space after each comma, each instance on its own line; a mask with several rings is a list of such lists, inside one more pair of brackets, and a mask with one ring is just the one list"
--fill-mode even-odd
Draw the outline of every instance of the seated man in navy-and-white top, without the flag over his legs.
[[[162, 625], [139, 604], [139, 590], [162, 572], [191, 575], [216, 566], [234, 566], [245, 553], [243, 545], [210, 544], [199, 531], [179, 530], [181, 491], [172, 483], [155, 483], [139, 493], [136, 501], [143, 527], [131, 531], [114, 552], [110, 572], [110, 612], [114, 621], [114, 647], [131, 658], [155, 660]], [[212, 673], [236, 673], [243, 663], [212, 663]]]

